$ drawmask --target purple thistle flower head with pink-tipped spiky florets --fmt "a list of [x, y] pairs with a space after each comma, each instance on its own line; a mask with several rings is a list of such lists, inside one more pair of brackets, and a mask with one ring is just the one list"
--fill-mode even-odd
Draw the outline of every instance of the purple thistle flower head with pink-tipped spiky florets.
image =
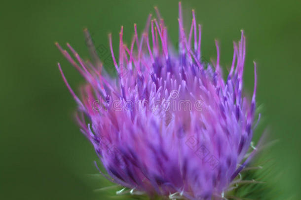
[[243, 31], [238, 44], [234, 42], [224, 80], [217, 41], [217, 60], [201, 59], [201, 26], [196, 25], [193, 10], [187, 33], [179, 3], [179, 52], [170, 45], [157, 9], [156, 13], [158, 19], [149, 16], [141, 37], [134, 26], [130, 46], [123, 43], [121, 27], [118, 56], [109, 35], [116, 78], [102, 70], [93, 46], [92, 64], [69, 44], [76, 60], [57, 44], [87, 81], [78, 98], [59, 64], [78, 104], [76, 119], [109, 175], [104, 176], [131, 193], [222, 199], [256, 151], [246, 158], [254, 129], [256, 65], [254, 92], [248, 100], [242, 95]]

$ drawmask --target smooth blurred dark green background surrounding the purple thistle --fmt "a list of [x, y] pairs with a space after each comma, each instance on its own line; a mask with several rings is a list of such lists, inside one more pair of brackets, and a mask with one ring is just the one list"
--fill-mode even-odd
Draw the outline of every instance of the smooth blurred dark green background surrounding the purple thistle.
[[[96, 174], [92, 146], [73, 119], [75, 102], [57, 62], [76, 90], [84, 80], [65, 60], [54, 42], [70, 42], [83, 58], [88, 50], [82, 34], [88, 28], [96, 45], [116, 48], [120, 26], [130, 41], [157, 5], [171, 40], [178, 37], [176, 0], [30, 0], [2, 1], [0, 6], [0, 199], [97, 200], [107, 185]], [[258, 63], [262, 124], [279, 142], [269, 150], [270, 181], [278, 199], [301, 199], [301, 1], [191, 0], [183, 1], [186, 28], [191, 8], [202, 24], [202, 52], [216, 58], [214, 39], [221, 44], [221, 62], [232, 59], [232, 41], [245, 30], [245, 88], [253, 91], [253, 60]], [[276, 198], [277, 199], [277, 198]]]

